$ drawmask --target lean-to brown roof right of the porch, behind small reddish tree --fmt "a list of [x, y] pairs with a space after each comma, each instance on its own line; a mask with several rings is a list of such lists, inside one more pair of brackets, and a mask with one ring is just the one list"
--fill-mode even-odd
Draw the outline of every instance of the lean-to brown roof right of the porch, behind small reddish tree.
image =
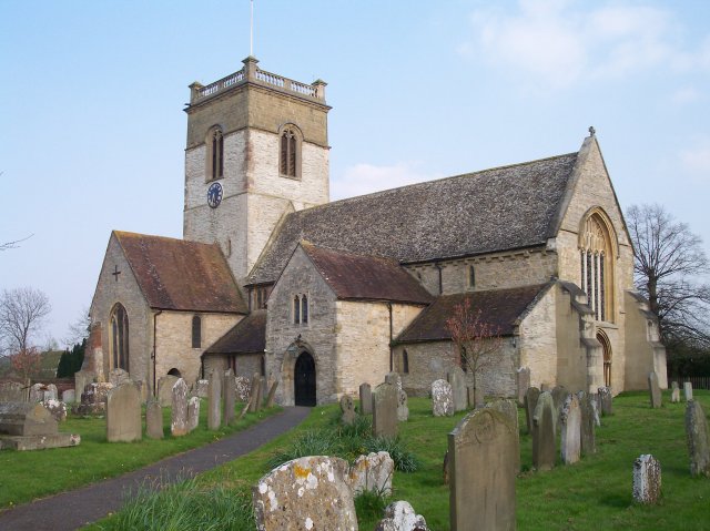
[[474, 310], [480, 308], [483, 323], [496, 327], [500, 336], [510, 336], [517, 326], [516, 321], [548, 286], [550, 283], [509, 289], [440, 295], [399, 334], [395, 343], [449, 340], [452, 335], [446, 329], [446, 319], [454, 315], [454, 307], [467, 298]]

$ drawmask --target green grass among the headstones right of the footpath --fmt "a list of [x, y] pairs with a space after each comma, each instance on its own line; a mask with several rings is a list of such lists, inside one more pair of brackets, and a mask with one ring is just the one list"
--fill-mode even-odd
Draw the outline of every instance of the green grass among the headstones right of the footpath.
[[[710, 391], [694, 391], [706, 413], [710, 412]], [[616, 397], [615, 415], [602, 418], [597, 428], [597, 453], [577, 464], [558, 467], [549, 472], [531, 471], [531, 439], [525, 433], [524, 411], [520, 450], [523, 473], [516, 483], [517, 527], [520, 530], [701, 530], [710, 528], [710, 478], [691, 478], [684, 431], [686, 404], [670, 404], [652, 410], [647, 392]], [[446, 435], [465, 416], [434, 418], [430, 401], [409, 400], [409, 421], [400, 423], [407, 448], [419, 460], [414, 473], [395, 472], [394, 500], [407, 500], [423, 514], [432, 530], [445, 531], [448, 524], [448, 487], [443, 484], [442, 462]], [[251, 487], [268, 471], [274, 455], [290, 447], [306, 430], [335, 430], [336, 405], [314, 408], [306, 421], [294, 431], [258, 450], [205, 472], [199, 478], [201, 491], [223, 489], [250, 496]], [[632, 466], [637, 457], [652, 453], [662, 469], [661, 502], [640, 507], [632, 502]], [[153, 511], [160, 511], [158, 509]], [[372, 530], [378, 518], [359, 514], [359, 529]], [[92, 529], [120, 529], [115, 517]], [[152, 529], [152, 528], [145, 528]], [[190, 529], [175, 525], [172, 529]], [[253, 522], [244, 528], [253, 529]]]

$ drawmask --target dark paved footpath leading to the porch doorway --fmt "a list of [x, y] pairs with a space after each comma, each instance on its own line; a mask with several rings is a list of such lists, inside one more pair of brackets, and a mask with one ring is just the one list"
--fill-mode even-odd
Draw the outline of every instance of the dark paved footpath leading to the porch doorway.
[[135, 491], [144, 481], [155, 478], [173, 481], [178, 477], [184, 478], [186, 473], [203, 472], [236, 459], [297, 426], [310, 411], [310, 408], [303, 407], [284, 408], [278, 415], [202, 448], [163, 459], [119, 478], [0, 512], [0, 530], [71, 531], [81, 528], [118, 511], [129, 489]]

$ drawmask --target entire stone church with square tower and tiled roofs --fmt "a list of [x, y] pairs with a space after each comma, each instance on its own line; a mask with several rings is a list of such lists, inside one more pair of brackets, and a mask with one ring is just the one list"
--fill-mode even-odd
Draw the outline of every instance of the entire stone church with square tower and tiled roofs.
[[190, 85], [183, 239], [111, 234], [87, 370], [154, 392], [231, 367], [278, 380], [283, 405], [395, 370], [426, 395], [460, 365], [445, 323], [468, 299], [500, 337], [487, 395], [515, 395], [520, 368], [535, 386], [666, 385], [594, 130], [575, 153], [329, 202], [326, 83], [243, 63]]

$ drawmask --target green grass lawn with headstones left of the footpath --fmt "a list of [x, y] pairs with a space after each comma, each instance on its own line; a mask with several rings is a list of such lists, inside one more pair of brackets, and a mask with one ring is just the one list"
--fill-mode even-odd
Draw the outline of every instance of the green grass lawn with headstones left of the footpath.
[[[242, 404], [236, 405], [236, 413]], [[242, 430], [281, 408], [247, 413], [234, 426], [209, 431], [207, 401], [202, 400], [200, 426], [185, 437], [170, 436], [170, 408], [163, 408], [162, 440], [143, 438], [140, 442], [106, 442], [105, 419], [70, 416], [59, 430], [81, 435], [81, 445], [38, 451], [0, 451], [0, 510], [57, 492], [120, 476], [165, 457], [213, 442]], [[145, 419], [143, 418], [143, 427]]]

